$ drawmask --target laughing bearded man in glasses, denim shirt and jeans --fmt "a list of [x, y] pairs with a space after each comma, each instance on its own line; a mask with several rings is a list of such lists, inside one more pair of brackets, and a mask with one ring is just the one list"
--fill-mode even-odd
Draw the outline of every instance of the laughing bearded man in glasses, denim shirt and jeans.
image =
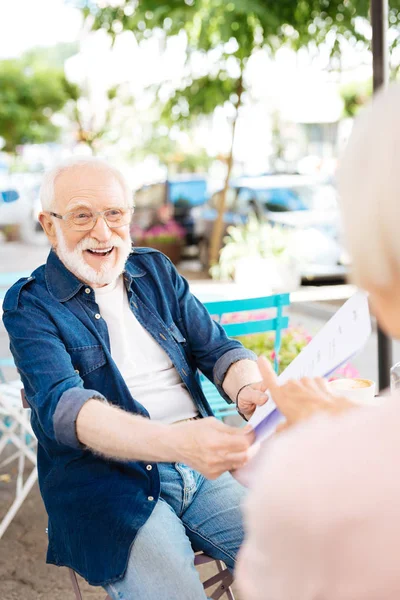
[[266, 400], [255, 356], [163, 254], [132, 251], [118, 171], [74, 159], [41, 201], [52, 250], [3, 318], [39, 441], [47, 561], [112, 598], [203, 599], [193, 549], [233, 569], [244, 492], [227, 471], [252, 433], [211, 416], [196, 373], [249, 416]]

